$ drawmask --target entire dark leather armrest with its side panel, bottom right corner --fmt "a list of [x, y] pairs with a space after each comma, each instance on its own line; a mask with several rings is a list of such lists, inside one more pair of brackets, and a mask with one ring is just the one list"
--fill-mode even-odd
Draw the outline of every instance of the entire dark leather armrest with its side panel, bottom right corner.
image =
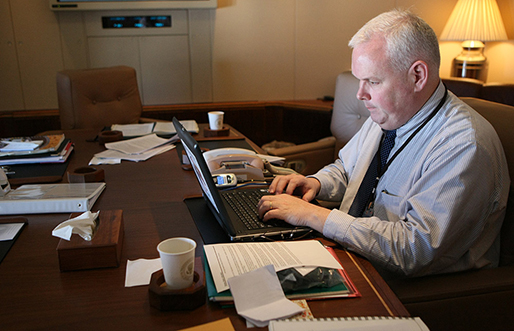
[[514, 266], [387, 282], [430, 330], [510, 330]]

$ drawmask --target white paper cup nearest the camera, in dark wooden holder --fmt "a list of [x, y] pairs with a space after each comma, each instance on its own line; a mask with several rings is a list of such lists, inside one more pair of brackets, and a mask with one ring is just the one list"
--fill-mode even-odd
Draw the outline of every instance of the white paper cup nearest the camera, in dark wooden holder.
[[189, 238], [170, 238], [157, 245], [164, 281], [171, 290], [193, 285], [196, 242]]

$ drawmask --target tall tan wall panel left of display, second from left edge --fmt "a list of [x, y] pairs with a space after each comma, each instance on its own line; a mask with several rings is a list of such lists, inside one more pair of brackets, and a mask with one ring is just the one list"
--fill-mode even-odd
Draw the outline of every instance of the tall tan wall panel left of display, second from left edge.
[[47, 0], [11, 0], [25, 109], [56, 109], [55, 76], [63, 69], [61, 35]]

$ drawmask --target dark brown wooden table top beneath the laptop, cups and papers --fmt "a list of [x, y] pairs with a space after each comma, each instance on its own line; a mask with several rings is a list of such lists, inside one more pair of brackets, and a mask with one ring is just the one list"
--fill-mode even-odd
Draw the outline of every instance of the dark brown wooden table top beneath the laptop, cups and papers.
[[[104, 149], [86, 142], [95, 136], [94, 131], [65, 134], [75, 143], [69, 169], [87, 165], [94, 153]], [[202, 256], [201, 236], [183, 202], [186, 195], [200, 194], [200, 187], [192, 172], [181, 169], [176, 151], [141, 163], [123, 161], [98, 167], [105, 170], [107, 188], [93, 210], [123, 210], [121, 265], [60, 272], [59, 239], [51, 232], [69, 215], [24, 215], [29, 224], [0, 264], [2, 330], [175, 330], [225, 317], [230, 317], [237, 330], [246, 329], [234, 308], [206, 302], [192, 311], [162, 312], [150, 307], [148, 286], [124, 286], [127, 260], [157, 258], [156, 246], [163, 239], [190, 237], [198, 243], [196, 255]], [[362, 297], [310, 301], [315, 317], [408, 316], [365, 259], [340, 248], [336, 251]]]

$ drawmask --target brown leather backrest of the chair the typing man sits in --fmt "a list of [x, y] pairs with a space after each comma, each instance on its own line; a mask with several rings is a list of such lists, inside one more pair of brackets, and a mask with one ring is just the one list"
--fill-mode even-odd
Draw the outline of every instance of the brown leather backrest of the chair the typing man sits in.
[[492, 124], [505, 151], [511, 178], [511, 194], [509, 194], [507, 213], [501, 230], [500, 265], [512, 265], [514, 264], [514, 189], [512, 185], [512, 178], [514, 178], [514, 130], [512, 129], [514, 107], [476, 98], [462, 98], [462, 100]]

